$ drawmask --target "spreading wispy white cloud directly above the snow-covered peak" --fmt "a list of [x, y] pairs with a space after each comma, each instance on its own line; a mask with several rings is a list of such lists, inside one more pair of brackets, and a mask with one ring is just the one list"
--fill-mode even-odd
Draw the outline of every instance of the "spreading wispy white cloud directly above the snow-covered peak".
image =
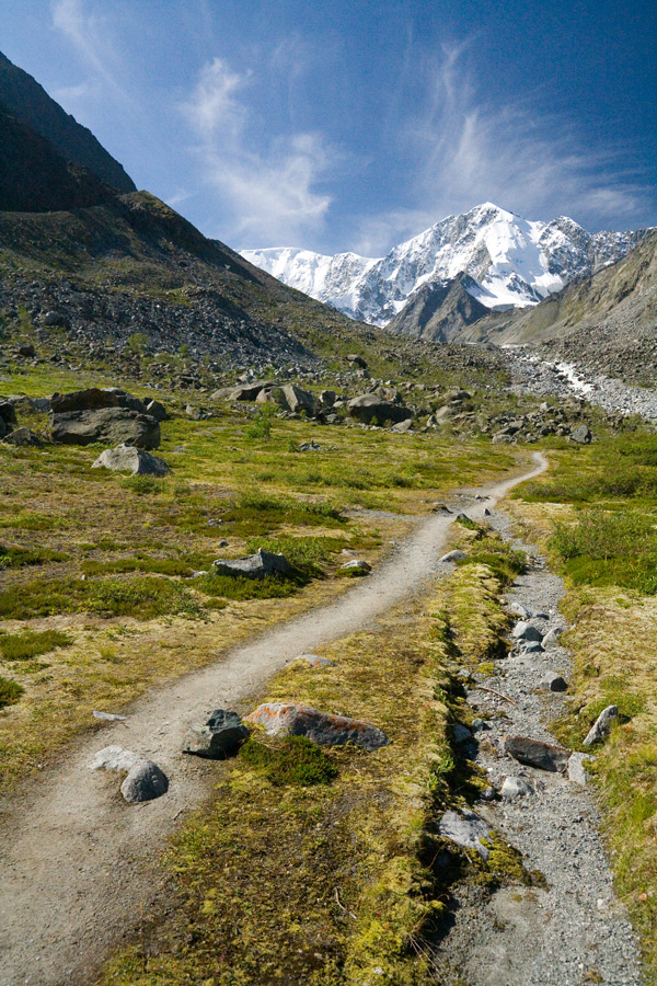
[[412, 61], [413, 84], [424, 76], [423, 96], [410, 117], [389, 123], [410, 161], [405, 205], [362, 217], [356, 249], [380, 253], [486, 200], [530, 219], [568, 214], [631, 226], [648, 190], [626, 171], [622, 149], [587, 146], [572, 121], [545, 108], [540, 91], [503, 105], [487, 101], [468, 69], [473, 47], [466, 41], [419, 67]]

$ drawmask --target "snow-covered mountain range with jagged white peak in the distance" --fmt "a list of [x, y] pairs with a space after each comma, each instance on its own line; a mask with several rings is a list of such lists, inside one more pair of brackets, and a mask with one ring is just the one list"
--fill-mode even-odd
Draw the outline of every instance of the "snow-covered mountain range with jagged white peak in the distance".
[[448, 216], [382, 257], [270, 248], [243, 250], [252, 264], [351, 318], [385, 325], [425, 284], [465, 272], [469, 293], [489, 309], [537, 305], [569, 280], [613, 263], [645, 236], [588, 233], [567, 216], [522, 219], [487, 202]]

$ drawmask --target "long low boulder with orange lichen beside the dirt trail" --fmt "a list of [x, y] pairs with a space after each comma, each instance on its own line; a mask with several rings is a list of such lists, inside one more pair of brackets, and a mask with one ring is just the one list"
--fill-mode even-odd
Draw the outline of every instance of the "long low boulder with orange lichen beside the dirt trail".
[[265, 702], [246, 716], [246, 722], [262, 725], [269, 736], [307, 736], [320, 746], [354, 743], [372, 750], [389, 743], [385, 733], [369, 722], [332, 715], [293, 702]]

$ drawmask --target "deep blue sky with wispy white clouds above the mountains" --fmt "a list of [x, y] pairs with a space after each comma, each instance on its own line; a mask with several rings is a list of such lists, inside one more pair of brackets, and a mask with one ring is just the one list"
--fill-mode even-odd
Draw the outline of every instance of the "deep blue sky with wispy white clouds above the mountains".
[[656, 48], [654, 0], [0, 0], [0, 50], [235, 249], [657, 225]]

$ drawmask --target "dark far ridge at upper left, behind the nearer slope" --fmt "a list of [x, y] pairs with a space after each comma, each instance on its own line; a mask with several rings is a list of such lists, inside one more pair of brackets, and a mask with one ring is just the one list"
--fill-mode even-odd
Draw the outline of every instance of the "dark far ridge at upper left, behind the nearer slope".
[[88, 168], [119, 192], [136, 192], [123, 167], [83, 127], [53, 100], [27, 72], [0, 51], [0, 107], [48, 140], [67, 160]]

